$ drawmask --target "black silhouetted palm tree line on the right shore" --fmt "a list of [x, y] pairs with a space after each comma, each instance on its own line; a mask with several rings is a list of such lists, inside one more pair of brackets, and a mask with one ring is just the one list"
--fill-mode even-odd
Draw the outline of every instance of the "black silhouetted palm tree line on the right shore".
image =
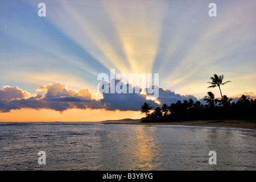
[[[214, 93], [208, 92], [205, 96], [205, 105], [200, 101], [194, 102], [191, 98], [183, 102], [177, 101], [169, 106], [163, 104], [162, 107], [154, 107], [144, 102], [141, 106], [141, 114], [145, 114], [142, 122], [180, 122], [192, 120], [207, 119], [256, 119], [256, 99], [242, 95], [237, 102], [233, 102], [232, 98], [222, 96], [221, 85], [225, 85], [231, 81], [223, 82], [223, 75], [214, 74], [210, 77], [211, 84], [208, 88], [218, 87], [221, 98], [215, 98]], [[150, 113], [150, 110], [154, 109]]]

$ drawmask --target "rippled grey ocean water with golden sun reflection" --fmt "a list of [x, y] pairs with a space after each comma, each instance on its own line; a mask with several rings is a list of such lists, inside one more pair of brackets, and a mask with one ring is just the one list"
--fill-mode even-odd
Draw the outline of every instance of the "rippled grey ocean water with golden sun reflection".
[[[46, 164], [38, 164], [39, 151], [46, 152]], [[216, 151], [217, 164], [209, 164], [209, 151]], [[255, 130], [0, 123], [0, 170], [255, 169]]]

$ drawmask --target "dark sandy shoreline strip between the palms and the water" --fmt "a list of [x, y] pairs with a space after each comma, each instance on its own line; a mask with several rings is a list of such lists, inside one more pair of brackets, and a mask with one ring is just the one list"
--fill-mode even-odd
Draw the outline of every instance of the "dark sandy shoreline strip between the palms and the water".
[[228, 121], [183, 121], [183, 122], [122, 122], [122, 121], [114, 121], [114, 122], [105, 122], [102, 123], [104, 125], [182, 125], [182, 126], [203, 126], [203, 127], [227, 127], [227, 128], [236, 128], [236, 129], [251, 129], [256, 130], [256, 122], [247, 122], [247, 121], [236, 121], [236, 120], [228, 120]]

